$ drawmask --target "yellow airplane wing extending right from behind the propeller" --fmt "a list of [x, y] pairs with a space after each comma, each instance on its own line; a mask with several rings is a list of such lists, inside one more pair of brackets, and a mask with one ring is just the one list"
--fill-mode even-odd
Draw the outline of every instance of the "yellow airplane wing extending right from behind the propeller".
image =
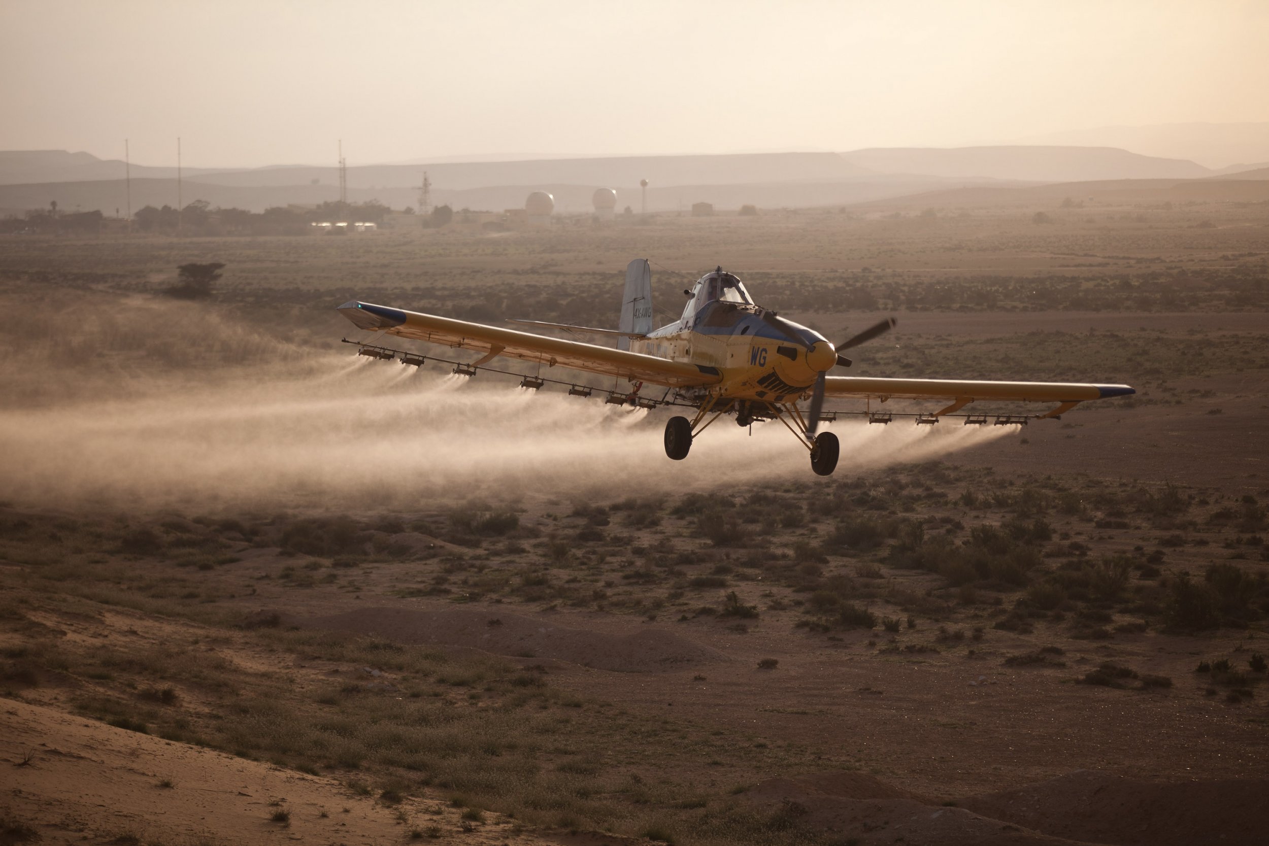
[[[1057, 402], [1062, 410], [1072, 408], [1076, 403], [1086, 400], [1104, 400], [1107, 397], [1122, 397], [1137, 393], [1134, 388], [1127, 384], [976, 382], [970, 379], [871, 379], [853, 375], [827, 377], [824, 392], [830, 397], [952, 400], [956, 408], [978, 400]], [[949, 408], [953, 406], [949, 406]], [[944, 412], [947, 411], [944, 410]]]

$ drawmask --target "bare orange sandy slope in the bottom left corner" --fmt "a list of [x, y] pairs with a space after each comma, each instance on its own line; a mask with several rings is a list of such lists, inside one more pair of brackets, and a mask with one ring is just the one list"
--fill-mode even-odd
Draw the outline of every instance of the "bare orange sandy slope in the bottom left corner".
[[[16, 766], [28, 752], [28, 766]], [[392, 843], [439, 826], [445, 842], [547, 843], [510, 821], [462, 832], [439, 800], [388, 807], [334, 779], [173, 743], [16, 700], [0, 712], [0, 809], [44, 843]], [[174, 786], [160, 783], [170, 780]], [[278, 803], [277, 805], [270, 803]], [[272, 822], [279, 809], [289, 823]], [[398, 819], [398, 809], [407, 823]], [[325, 816], [324, 816], [325, 814]], [[437, 842], [437, 841], [431, 841]]]

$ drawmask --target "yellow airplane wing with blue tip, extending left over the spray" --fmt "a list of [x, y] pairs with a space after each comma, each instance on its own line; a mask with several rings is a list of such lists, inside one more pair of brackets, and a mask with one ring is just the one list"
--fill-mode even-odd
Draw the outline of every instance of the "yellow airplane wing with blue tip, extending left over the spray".
[[642, 353], [544, 337], [355, 299], [340, 306], [339, 311], [358, 329], [483, 353], [485, 358], [477, 364], [505, 355], [548, 367], [574, 368], [673, 388], [714, 384], [722, 379], [718, 370], [711, 367], [670, 361]]

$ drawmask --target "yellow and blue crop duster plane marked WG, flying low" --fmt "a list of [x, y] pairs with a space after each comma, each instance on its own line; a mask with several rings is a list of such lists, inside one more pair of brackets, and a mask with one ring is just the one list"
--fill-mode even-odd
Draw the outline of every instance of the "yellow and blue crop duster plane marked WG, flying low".
[[[410, 337], [449, 348], [483, 353], [473, 363], [456, 364], [456, 373], [475, 374], [497, 356], [516, 358], [541, 365], [572, 368], [628, 379], [631, 391], [612, 391], [609, 402], [655, 407], [673, 405], [694, 408], [688, 417], [670, 417], [665, 424], [665, 454], [675, 460], [688, 457], [692, 441], [720, 415], [735, 415], [749, 426], [756, 420], [779, 420], [811, 453], [811, 468], [829, 476], [838, 465], [838, 438], [830, 431], [816, 434], [824, 398], [855, 397], [949, 400], [950, 403], [917, 422], [937, 422], [977, 400], [1056, 402], [1043, 417], [1057, 417], [1080, 402], [1119, 397], [1136, 391], [1126, 384], [1080, 384], [1063, 382], [970, 382], [958, 379], [879, 379], [829, 375], [835, 367], [850, 367], [843, 350], [872, 340], [895, 326], [884, 320], [863, 332], [834, 345], [819, 332], [758, 306], [733, 274], [718, 268], [685, 290], [688, 304], [683, 316], [654, 331], [652, 271], [647, 260], [636, 259], [626, 269], [619, 329], [585, 329], [539, 321], [513, 321], [617, 337], [617, 349], [558, 337], [546, 337], [496, 326], [471, 323], [449, 317], [390, 308], [353, 301], [339, 309], [359, 329]], [[346, 340], [346, 339], [345, 339]], [[423, 364], [421, 355], [382, 346], [358, 344], [363, 355], [400, 358], [404, 364]], [[444, 359], [439, 359], [444, 360]], [[519, 374], [516, 374], [519, 375]], [[570, 393], [590, 396], [593, 388], [560, 379], [524, 377], [520, 383], [541, 388], [544, 382], [570, 386]], [[640, 396], [646, 384], [662, 386], [660, 400]], [[671, 397], [673, 392], [673, 397]], [[810, 398], [803, 413], [797, 403]], [[891, 415], [871, 413], [874, 422], [890, 421]], [[997, 422], [1025, 422], [1025, 416], [1000, 417]], [[986, 422], [986, 416], [966, 415], [966, 422]]]

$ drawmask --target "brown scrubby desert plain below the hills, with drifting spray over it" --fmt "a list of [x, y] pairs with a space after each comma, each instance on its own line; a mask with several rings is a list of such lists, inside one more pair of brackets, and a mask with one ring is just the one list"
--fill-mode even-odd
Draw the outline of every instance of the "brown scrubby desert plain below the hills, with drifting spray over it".
[[[1264, 842], [1269, 205], [1030, 202], [4, 236], [0, 843]], [[632, 257], [897, 316], [854, 374], [1137, 394], [843, 413], [820, 478], [340, 342], [612, 327]]]

